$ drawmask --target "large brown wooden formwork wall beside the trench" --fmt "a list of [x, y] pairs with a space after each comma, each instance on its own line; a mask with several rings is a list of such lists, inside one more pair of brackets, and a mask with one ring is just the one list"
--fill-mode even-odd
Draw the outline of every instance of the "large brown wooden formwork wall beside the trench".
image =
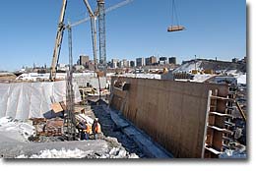
[[[112, 88], [111, 107], [145, 131], [175, 157], [202, 156], [210, 89], [220, 96], [227, 85], [150, 79], [118, 78], [131, 84], [128, 91]], [[112, 77], [112, 84], [117, 80]]]

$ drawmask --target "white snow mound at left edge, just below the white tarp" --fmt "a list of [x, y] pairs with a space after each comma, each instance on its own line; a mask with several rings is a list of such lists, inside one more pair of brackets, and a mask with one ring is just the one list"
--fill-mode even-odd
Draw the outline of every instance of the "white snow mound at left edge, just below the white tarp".
[[13, 140], [28, 142], [29, 137], [35, 134], [35, 129], [29, 123], [6, 116], [0, 118], [0, 132]]

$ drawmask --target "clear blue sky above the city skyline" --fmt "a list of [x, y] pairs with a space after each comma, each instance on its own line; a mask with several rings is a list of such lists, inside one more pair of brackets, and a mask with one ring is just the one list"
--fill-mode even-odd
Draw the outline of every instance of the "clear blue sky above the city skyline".
[[[96, 0], [89, 0], [93, 7]], [[106, 8], [122, 0], [106, 0]], [[171, 0], [134, 0], [106, 15], [106, 55], [111, 58], [176, 56], [220, 60], [246, 55], [245, 0], [176, 0], [184, 31], [167, 32]], [[5, 0], [0, 6], [0, 70], [51, 63], [62, 0]], [[88, 17], [83, 0], [68, 0], [71, 23]], [[174, 21], [175, 22], [175, 21]], [[175, 24], [175, 23], [174, 23]], [[92, 53], [90, 22], [73, 28], [73, 57]], [[68, 62], [67, 32], [60, 63]]]

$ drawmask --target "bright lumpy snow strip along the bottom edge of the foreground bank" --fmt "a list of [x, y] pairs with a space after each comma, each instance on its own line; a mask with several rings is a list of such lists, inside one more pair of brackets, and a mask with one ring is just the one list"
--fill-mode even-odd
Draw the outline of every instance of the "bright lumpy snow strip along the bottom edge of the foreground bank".
[[83, 151], [75, 148], [74, 150], [62, 148], [40, 150], [39, 154], [32, 154], [31, 156], [19, 155], [17, 158], [85, 158], [93, 150]]

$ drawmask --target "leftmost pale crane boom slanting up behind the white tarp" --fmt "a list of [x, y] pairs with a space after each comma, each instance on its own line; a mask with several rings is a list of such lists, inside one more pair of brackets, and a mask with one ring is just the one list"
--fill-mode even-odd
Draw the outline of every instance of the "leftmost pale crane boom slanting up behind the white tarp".
[[50, 68], [50, 78], [49, 78], [50, 81], [54, 81], [56, 79], [57, 64], [58, 64], [58, 60], [59, 60], [59, 53], [60, 53], [60, 49], [61, 49], [63, 33], [64, 33], [64, 29], [65, 29], [64, 18], [65, 18], [66, 8], [67, 8], [67, 0], [63, 0], [61, 13], [60, 13], [60, 17], [59, 17], [57, 35], [56, 35], [56, 39], [55, 39], [55, 46], [54, 46], [54, 50], [53, 50], [51, 68]]

